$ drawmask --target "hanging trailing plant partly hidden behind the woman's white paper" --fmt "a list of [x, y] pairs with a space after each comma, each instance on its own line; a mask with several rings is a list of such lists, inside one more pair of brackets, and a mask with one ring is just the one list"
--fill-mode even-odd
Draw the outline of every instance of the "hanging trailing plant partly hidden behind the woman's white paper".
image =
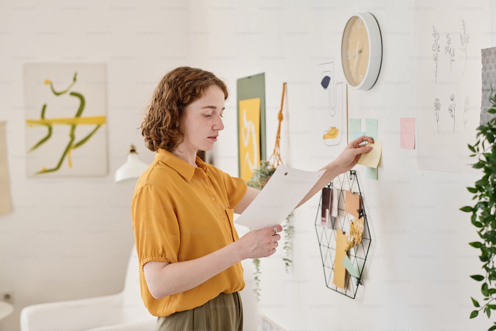
[[[273, 165], [271, 165], [268, 161], [262, 160], [260, 161], [260, 165], [253, 169], [253, 175], [248, 181], [248, 186], [261, 190], [267, 181], [270, 179], [270, 176], [276, 171], [276, 168], [274, 168]], [[284, 245], [283, 245], [283, 251], [284, 251], [284, 267], [286, 272], [289, 273], [289, 268], [291, 266], [291, 263], [293, 262], [291, 260], [291, 254], [293, 251], [293, 245], [292, 245], [292, 239], [293, 239], [293, 225], [291, 222], [293, 213], [289, 214], [288, 217], [286, 217], [286, 220], [283, 224], [283, 232], [285, 234], [284, 236]], [[261, 271], [260, 271], [260, 259], [253, 259], [253, 265], [255, 266], [255, 272], [253, 273], [254, 277], [254, 282], [255, 282], [255, 288], [253, 291], [255, 292], [255, 298], [257, 301], [260, 300], [260, 276], [261, 276]]]

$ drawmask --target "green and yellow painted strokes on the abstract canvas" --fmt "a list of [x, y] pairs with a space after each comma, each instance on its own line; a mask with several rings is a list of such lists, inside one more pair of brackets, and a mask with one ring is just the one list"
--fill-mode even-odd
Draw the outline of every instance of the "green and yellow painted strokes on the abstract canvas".
[[[50, 89], [56, 97], [59, 97], [61, 95], [64, 95], [65, 93], [69, 92], [69, 90], [76, 84], [76, 82], [77, 82], [77, 71], [74, 72], [72, 82], [63, 91], [56, 91], [54, 88], [53, 81], [51, 81], [50, 79], [45, 79], [45, 81], [44, 81], [45, 85], [50, 85]], [[58, 171], [61, 168], [63, 160], [65, 159], [66, 156], [67, 156], [67, 162], [68, 162], [69, 168], [72, 168], [72, 161], [71, 161], [72, 150], [76, 149], [78, 147], [81, 147], [106, 122], [105, 116], [81, 117], [81, 115], [83, 114], [83, 111], [84, 111], [85, 104], [86, 104], [84, 96], [81, 93], [74, 92], [74, 91], [70, 92], [69, 95], [71, 97], [78, 99], [78, 101], [79, 101], [79, 107], [78, 107], [74, 117], [72, 117], [72, 118], [71, 117], [68, 117], [68, 118], [46, 118], [45, 113], [47, 110], [48, 103], [44, 103], [42, 106], [42, 109], [41, 109], [41, 115], [40, 115], [39, 120], [26, 120], [26, 125], [28, 125], [28, 126], [44, 126], [47, 128], [47, 134], [42, 139], [40, 139], [36, 144], [34, 144], [34, 146], [31, 147], [28, 152], [31, 152], [31, 151], [37, 149], [38, 147], [43, 145], [45, 142], [47, 142], [52, 137], [54, 125], [69, 125], [70, 126], [69, 141], [67, 142], [67, 145], [65, 146], [64, 150], [62, 151], [62, 155], [61, 155], [57, 165], [53, 168], [48, 168], [48, 169], [46, 167], [43, 167], [40, 171], [36, 172], [36, 175]], [[75, 140], [76, 140], [76, 128], [78, 125], [95, 125], [95, 128], [89, 134], [87, 134], [84, 138], [75, 142]]]

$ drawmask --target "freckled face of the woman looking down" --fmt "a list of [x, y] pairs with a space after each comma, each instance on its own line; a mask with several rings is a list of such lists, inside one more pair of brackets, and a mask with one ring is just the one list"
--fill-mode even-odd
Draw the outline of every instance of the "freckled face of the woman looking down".
[[180, 129], [184, 141], [178, 146], [183, 152], [212, 150], [219, 131], [224, 129], [224, 92], [217, 85], [210, 85], [204, 95], [189, 104], [181, 119]]

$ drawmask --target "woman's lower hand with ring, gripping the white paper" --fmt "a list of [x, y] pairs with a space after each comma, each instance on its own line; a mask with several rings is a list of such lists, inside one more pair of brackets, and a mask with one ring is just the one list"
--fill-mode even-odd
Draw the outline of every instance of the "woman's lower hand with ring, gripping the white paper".
[[[274, 227], [275, 232], [274, 234]], [[242, 260], [266, 258], [276, 252], [282, 231], [282, 225], [266, 227], [259, 230], [251, 230], [237, 241], [241, 245]]]

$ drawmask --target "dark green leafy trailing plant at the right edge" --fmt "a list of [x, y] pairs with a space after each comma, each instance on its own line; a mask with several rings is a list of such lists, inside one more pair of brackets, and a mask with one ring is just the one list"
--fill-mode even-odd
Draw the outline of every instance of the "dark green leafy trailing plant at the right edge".
[[[489, 98], [492, 107], [488, 110], [490, 114], [496, 114], [496, 94]], [[481, 293], [483, 302], [479, 302], [473, 297], [472, 304], [476, 308], [470, 313], [470, 318], [475, 318], [482, 313], [488, 318], [491, 311], [496, 310], [496, 118], [491, 119], [486, 125], [477, 128], [477, 140], [473, 145], [468, 145], [472, 151], [471, 157], [477, 158], [477, 162], [472, 165], [475, 169], [481, 169], [483, 176], [475, 182], [475, 187], [468, 187], [467, 190], [474, 194], [474, 206], [464, 206], [460, 210], [472, 213], [472, 224], [477, 228], [479, 241], [469, 243], [470, 246], [480, 250], [479, 259], [482, 263], [483, 272], [470, 277], [482, 282]], [[488, 331], [496, 330], [496, 322]]]

